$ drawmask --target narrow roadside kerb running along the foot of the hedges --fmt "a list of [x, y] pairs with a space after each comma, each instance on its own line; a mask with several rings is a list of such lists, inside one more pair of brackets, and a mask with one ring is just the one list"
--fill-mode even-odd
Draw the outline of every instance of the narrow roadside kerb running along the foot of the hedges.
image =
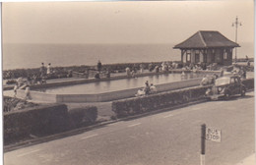
[[129, 117], [126, 117], [126, 118], [120, 118], [120, 119], [116, 119], [116, 120], [100, 122], [100, 123], [97, 123], [96, 125], [83, 127], [83, 128], [79, 128], [79, 129], [75, 129], [75, 130], [70, 130], [70, 131], [67, 131], [67, 132], [63, 132], [63, 133], [59, 133], [59, 134], [55, 134], [55, 135], [50, 135], [50, 136], [47, 136], [47, 137], [33, 138], [33, 139], [17, 142], [15, 144], [6, 145], [6, 146], [4, 146], [3, 151], [5, 153], [5, 152], [16, 150], [16, 149], [19, 149], [19, 148], [22, 148], [22, 147], [28, 147], [28, 146], [31, 146], [31, 145], [34, 145], [34, 144], [37, 144], [37, 143], [46, 142], [46, 141], [50, 141], [50, 140], [57, 139], [57, 138], [66, 138], [68, 136], [78, 135], [78, 134], [81, 134], [83, 132], [91, 131], [91, 130], [94, 130], [94, 129], [97, 129], [97, 128], [100, 128], [100, 127], [103, 127], [105, 125], [109, 125], [109, 124], [112, 124], [112, 123], [116, 123], [116, 122], [119, 122], [119, 121], [127, 121], [127, 120], [137, 119], [137, 118], [141, 118], [141, 117], [146, 117], [146, 116], [154, 115], [154, 114], [157, 114], [157, 113], [160, 113], [160, 112], [171, 111], [171, 110], [183, 108], [183, 107], [186, 107], [186, 106], [203, 103], [203, 102], [206, 102], [206, 101], [207, 101], [207, 99], [201, 98], [201, 99], [196, 100], [196, 101], [192, 101], [192, 102], [188, 102], [188, 103], [184, 103], [184, 104], [180, 104], [180, 105], [176, 105], [176, 106], [172, 106], [172, 107], [161, 108], [161, 109], [156, 110], [156, 111], [150, 111], [150, 112], [146, 112], [146, 113], [143, 113], [143, 114], [129, 116]]

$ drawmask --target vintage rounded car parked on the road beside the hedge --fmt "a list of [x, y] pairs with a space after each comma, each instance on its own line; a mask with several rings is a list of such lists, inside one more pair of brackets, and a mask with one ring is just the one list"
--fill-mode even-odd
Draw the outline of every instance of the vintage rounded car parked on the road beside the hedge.
[[232, 95], [240, 94], [244, 96], [246, 92], [245, 85], [241, 83], [239, 76], [222, 77], [215, 81], [211, 88], [206, 91], [206, 96], [212, 100], [224, 97], [230, 98]]

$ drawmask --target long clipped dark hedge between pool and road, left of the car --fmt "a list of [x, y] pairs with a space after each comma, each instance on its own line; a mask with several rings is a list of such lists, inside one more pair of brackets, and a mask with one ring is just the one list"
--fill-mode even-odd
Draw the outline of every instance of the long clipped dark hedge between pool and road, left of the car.
[[112, 102], [112, 111], [117, 118], [123, 118], [135, 114], [164, 108], [176, 104], [182, 104], [196, 100], [204, 96], [209, 86], [197, 86], [142, 97], [122, 99]]

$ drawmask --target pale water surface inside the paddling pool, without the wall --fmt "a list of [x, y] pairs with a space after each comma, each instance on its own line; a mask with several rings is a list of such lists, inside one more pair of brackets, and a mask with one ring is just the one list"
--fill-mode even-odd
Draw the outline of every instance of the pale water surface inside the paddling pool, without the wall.
[[179, 82], [182, 80], [189, 80], [195, 78], [202, 78], [205, 74], [163, 74], [139, 78], [129, 78], [122, 80], [112, 80], [112, 81], [102, 81], [96, 83], [82, 83], [82, 84], [72, 84], [64, 86], [55, 86], [38, 89], [38, 91], [43, 91], [53, 94], [96, 94], [116, 90], [124, 90], [129, 88], [143, 87], [146, 81], [149, 83], [160, 84], [160, 83], [172, 83]]

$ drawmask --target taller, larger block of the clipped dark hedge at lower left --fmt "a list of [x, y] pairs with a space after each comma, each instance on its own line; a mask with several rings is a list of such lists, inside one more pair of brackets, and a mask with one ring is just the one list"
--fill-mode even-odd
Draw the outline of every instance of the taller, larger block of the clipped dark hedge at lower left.
[[41, 105], [4, 113], [4, 139], [16, 140], [30, 135], [45, 136], [68, 129], [68, 111], [64, 104]]

